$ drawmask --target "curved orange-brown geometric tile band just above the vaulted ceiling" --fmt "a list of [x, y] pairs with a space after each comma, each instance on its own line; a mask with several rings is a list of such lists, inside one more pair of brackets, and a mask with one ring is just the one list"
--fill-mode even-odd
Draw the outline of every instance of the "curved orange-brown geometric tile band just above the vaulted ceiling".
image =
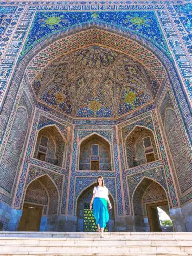
[[114, 36], [113, 33], [99, 29], [91, 29], [67, 36], [40, 51], [27, 66], [26, 73], [30, 81], [32, 82], [39, 71], [56, 57], [90, 44], [104, 45], [106, 48], [110, 47], [130, 55], [147, 67], [159, 83], [162, 81], [165, 69], [153, 53], [135, 41], [119, 35]]

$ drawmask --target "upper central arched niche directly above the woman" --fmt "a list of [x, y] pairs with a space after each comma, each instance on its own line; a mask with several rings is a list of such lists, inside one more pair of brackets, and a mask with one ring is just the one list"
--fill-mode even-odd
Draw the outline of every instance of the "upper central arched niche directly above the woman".
[[111, 170], [110, 144], [93, 134], [80, 145], [79, 170]]

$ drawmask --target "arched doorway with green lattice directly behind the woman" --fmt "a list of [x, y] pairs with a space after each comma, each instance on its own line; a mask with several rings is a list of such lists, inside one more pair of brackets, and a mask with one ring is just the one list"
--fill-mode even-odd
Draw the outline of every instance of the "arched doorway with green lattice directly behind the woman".
[[[89, 210], [89, 205], [93, 197], [93, 188], [96, 184], [92, 184], [85, 189], [79, 196], [77, 201], [77, 231], [79, 232], [96, 232], [97, 226], [95, 225], [95, 219], [92, 211]], [[109, 199], [112, 205], [112, 209], [109, 210], [110, 219], [105, 231], [115, 231], [115, 215], [114, 215], [114, 201], [109, 194]]]

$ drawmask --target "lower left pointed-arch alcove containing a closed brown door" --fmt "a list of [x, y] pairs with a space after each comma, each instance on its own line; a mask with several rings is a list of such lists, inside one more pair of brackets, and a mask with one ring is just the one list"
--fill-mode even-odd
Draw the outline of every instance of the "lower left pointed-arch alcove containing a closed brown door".
[[32, 181], [26, 188], [18, 231], [40, 231], [41, 217], [57, 214], [58, 203], [58, 190], [48, 175]]

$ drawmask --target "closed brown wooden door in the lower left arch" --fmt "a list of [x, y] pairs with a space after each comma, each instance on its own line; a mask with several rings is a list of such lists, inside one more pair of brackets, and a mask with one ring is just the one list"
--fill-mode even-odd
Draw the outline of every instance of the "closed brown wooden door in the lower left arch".
[[24, 204], [18, 231], [39, 231], [42, 206]]

